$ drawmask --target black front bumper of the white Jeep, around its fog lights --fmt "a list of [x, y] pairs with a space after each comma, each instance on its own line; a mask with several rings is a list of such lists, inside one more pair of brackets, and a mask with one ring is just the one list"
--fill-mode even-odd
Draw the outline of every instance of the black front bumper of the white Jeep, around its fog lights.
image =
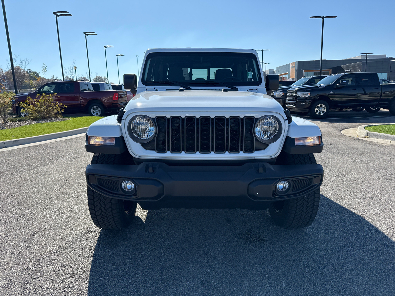
[[[88, 165], [87, 184], [110, 198], [135, 200], [143, 209], [159, 208], [250, 208], [268, 202], [292, 199], [314, 191], [322, 184], [321, 165], [173, 166], [145, 162], [140, 165]], [[134, 182], [126, 192], [121, 183]], [[280, 180], [288, 191], [277, 191]]]

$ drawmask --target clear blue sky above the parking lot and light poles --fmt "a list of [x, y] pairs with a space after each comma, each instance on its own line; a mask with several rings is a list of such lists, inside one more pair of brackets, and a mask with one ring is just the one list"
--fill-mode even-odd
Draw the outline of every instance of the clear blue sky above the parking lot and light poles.
[[[46, 77], [62, 77], [52, 11], [60, 17], [59, 31], [64, 67], [75, 60], [77, 74], [88, 71], [84, 31], [88, 36], [90, 69], [105, 76], [103, 45], [107, 49], [109, 80], [119, 72], [137, 73], [148, 48], [230, 47], [270, 49], [264, 52], [268, 68], [295, 60], [320, 58], [321, 20], [326, 19], [324, 59], [341, 59], [360, 52], [395, 56], [393, 27], [395, 2], [371, 1], [103, 1], [5, 0], [13, 54], [31, 59], [30, 69], [47, 65]], [[0, 20], [0, 66], [9, 60], [4, 22]], [[260, 55], [261, 56], [261, 55]], [[122, 83], [122, 81], [121, 81]]]

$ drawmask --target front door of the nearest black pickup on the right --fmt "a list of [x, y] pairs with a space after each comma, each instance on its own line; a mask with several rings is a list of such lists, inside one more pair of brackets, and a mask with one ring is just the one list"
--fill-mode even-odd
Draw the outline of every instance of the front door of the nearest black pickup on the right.
[[355, 84], [355, 74], [346, 74], [340, 77], [333, 86], [333, 94], [329, 93], [332, 104], [336, 107], [347, 107], [355, 104], [358, 99], [358, 89]]

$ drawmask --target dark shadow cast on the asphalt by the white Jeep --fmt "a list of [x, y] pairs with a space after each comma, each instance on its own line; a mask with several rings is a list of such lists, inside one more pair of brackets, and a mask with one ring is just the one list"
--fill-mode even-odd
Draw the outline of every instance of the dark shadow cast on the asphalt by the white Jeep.
[[102, 230], [88, 295], [393, 295], [395, 243], [321, 196], [316, 221], [282, 229], [268, 211], [148, 211]]

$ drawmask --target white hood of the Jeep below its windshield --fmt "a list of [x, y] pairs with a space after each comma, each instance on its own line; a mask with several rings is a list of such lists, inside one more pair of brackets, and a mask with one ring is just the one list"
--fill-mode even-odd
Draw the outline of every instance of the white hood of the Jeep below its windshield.
[[256, 92], [222, 92], [221, 90], [141, 92], [130, 100], [125, 110], [256, 111], [257, 108], [284, 113], [281, 105], [268, 95]]

